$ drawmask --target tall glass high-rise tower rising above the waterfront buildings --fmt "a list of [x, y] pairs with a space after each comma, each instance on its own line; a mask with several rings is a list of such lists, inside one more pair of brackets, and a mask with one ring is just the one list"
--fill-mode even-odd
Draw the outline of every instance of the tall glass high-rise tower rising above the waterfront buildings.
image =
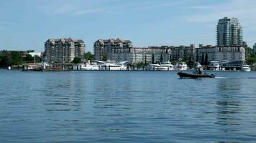
[[219, 19], [216, 36], [217, 46], [242, 46], [242, 26], [237, 18]]

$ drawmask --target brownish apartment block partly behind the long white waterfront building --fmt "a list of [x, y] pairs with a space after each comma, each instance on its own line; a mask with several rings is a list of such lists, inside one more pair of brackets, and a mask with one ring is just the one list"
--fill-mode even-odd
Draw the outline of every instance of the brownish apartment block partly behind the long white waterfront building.
[[132, 41], [122, 39], [99, 39], [94, 42], [94, 54], [96, 60], [112, 60], [112, 51], [125, 51], [132, 48]]

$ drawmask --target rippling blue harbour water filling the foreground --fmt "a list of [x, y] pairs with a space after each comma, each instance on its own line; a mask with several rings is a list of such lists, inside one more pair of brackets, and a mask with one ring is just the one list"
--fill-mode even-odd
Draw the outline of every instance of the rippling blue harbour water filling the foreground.
[[0, 70], [0, 142], [256, 142], [256, 72]]

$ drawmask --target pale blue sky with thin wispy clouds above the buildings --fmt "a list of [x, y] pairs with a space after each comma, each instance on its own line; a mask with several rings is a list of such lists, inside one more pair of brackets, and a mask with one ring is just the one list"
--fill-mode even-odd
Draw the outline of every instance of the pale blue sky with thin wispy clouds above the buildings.
[[1, 0], [0, 50], [44, 51], [47, 39], [129, 39], [133, 46], [216, 45], [216, 24], [239, 19], [256, 42], [255, 0]]

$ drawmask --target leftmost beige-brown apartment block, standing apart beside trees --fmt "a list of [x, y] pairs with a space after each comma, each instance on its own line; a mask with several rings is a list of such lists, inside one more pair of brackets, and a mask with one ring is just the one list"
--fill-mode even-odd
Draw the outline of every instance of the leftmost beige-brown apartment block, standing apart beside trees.
[[48, 39], [45, 41], [45, 56], [49, 63], [69, 63], [75, 57], [83, 58], [85, 44], [81, 39]]

